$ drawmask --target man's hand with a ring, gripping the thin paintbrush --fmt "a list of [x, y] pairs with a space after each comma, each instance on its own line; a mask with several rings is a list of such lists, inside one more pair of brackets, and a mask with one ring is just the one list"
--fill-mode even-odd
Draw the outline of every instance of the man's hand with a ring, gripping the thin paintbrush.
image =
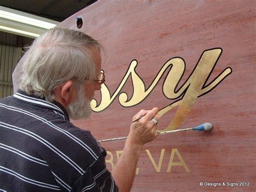
[[160, 116], [157, 114], [158, 108], [154, 107], [150, 111], [140, 110], [139, 113], [133, 116], [133, 121], [139, 119], [132, 123], [130, 127], [130, 133], [128, 139], [137, 145], [144, 145], [147, 142], [151, 142], [157, 137], [157, 127], [152, 119], [159, 121]]

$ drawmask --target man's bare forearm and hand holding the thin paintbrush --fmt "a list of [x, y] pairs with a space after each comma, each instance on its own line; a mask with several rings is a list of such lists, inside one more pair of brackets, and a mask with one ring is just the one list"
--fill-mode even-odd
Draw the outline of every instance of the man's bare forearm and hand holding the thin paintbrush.
[[135, 176], [136, 164], [139, 160], [139, 154], [145, 143], [154, 140], [157, 137], [157, 127], [152, 119], [157, 121], [160, 116], [157, 114], [158, 108], [150, 111], [141, 110], [133, 116], [134, 121], [130, 127], [130, 133], [126, 139], [123, 153], [120, 156], [116, 166], [112, 169], [112, 175], [119, 191], [130, 191]]

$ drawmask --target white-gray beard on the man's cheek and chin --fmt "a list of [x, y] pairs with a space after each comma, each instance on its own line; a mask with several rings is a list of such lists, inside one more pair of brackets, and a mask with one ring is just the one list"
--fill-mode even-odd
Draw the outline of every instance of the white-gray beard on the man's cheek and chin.
[[71, 119], [86, 119], [92, 113], [90, 100], [86, 98], [84, 94], [84, 87], [77, 88], [78, 98], [72, 104], [67, 107], [68, 114]]

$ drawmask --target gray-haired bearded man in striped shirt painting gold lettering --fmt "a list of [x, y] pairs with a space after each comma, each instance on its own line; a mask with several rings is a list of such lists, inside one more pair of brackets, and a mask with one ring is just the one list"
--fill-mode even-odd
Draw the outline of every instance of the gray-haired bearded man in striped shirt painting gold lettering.
[[129, 191], [143, 145], [157, 136], [158, 109], [134, 115], [123, 154], [110, 173], [106, 151], [69, 118], [86, 118], [104, 83], [99, 43], [51, 29], [23, 58], [20, 90], [0, 101], [0, 189]]

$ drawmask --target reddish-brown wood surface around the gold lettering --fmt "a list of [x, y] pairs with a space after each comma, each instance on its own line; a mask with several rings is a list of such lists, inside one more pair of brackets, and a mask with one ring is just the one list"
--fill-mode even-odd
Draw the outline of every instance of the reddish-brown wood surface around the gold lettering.
[[[225, 68], [232, 68], [230, 76], [196, 100], [179, 127], [211, 122], [212, 131], [163, 135], [145, 145], [132, 191], [255, 191], [255, 4], [253, 0], [99, 1], [59, 24], [76, 29], [76, 17], [82, 17], [83, 27], [79, 30], [102, 43], [105, 50], [102, 68], [111, 93], [133, 59], [138, 61], [136, 71], [146, 86], [167, 60], [181, 57], [186, 70], [180, 86], [193, 71], [201, 53], [214, 47], [221, 47], [223, 53], [207, 82]], [[132, 116], [139, 109], [163, 108], [173, 102], [164, 97], [163, 81], [164, 78], [137, 106], [124, 108], [115, 99], [104, 111], [75, 124], [89, 129], [97, 139], [126, 136]], [[131, 80], [122, 91], [132, 95]], [[96, 98], [100, 98], [99, 93]], [[174, 113], [175, 109], [163, 116], [160, 128], [169, 124]], [[123, 149], [124, 141], [102, 143], [102, 146], [113, 154], [116, 163], [116, 151]], [[157, 166], [161, 149], [165, 149], [160, 172], [145, 149], [150, 151]], [[167, 172], [175, 149], [190, 173], [184, 166], [173, 166]], [[173, 162], [180, 162], [177, 154]], [[107, 167], [111, 170], [110, 163]], [[200, 187], [199, 182], [250, 182], [250, 186]]]

